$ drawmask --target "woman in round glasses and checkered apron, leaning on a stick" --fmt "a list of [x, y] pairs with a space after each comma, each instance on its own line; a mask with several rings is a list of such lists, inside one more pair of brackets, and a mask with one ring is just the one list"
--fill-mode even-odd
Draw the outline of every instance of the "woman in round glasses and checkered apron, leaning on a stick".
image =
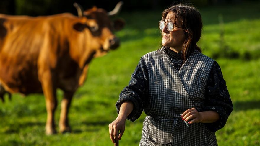
[[[141, 57], [116, 103], [109, 124], [112, 142], [120, 140], [125, 121], [145, 112], [140, 145], [217, 145], [233, 105], [216, 61], [196, 45], [201, 37], [199, 11], [186, 5], [165, 9], [163, 47]], [[120, 133], [118, 135], [118, 130]]]

